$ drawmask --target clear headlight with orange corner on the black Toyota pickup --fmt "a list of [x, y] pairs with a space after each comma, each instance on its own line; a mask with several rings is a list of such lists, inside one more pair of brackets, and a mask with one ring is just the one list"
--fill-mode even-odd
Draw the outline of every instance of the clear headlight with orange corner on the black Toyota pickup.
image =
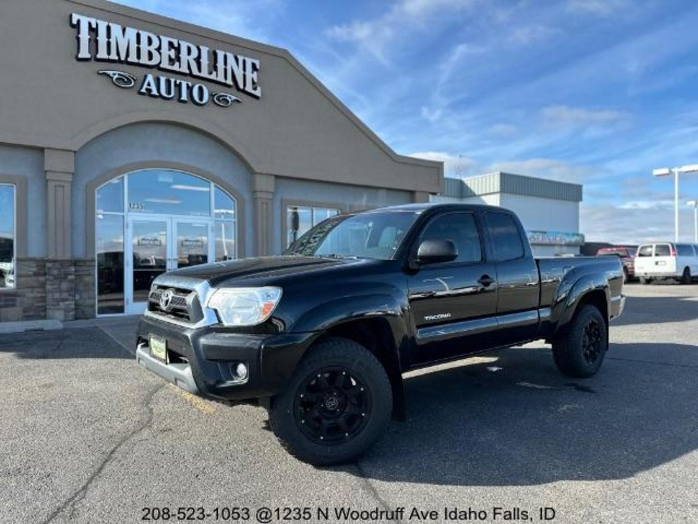
[[218, 289], [208, 306], [225, 326], [255, 326], [269, 318], [281, 298], [280, 287]]

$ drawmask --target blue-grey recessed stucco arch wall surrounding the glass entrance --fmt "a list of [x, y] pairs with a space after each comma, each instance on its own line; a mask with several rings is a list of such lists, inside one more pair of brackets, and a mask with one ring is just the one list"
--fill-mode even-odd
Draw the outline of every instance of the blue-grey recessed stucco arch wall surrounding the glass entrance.
[[[88, 252], [88, 198], [94, 198], [88, 184], [110, 174], [124, 174], [147, 163], [149, 167], [175, 167], [195, 174], [214, 175], [232, 187], [242, 200], [244, 220], [239, 225], [250, 230], [253, 224], [251, 173], [225, 145], [204, 133], [174, 124], [132, 124], [91, 140], [75, 155], [75, 175], [71, 205], [73, 208], [73, 256], [91, 257]], [[216, 180], [214, 180], [216, 182]], [[253, 252], [253, 235], [244, 235], [244, 253]]]

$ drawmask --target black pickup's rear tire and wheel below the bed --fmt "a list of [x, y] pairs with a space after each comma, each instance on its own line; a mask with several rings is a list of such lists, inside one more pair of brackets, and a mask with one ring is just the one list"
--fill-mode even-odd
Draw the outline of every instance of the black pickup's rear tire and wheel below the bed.
[[608, 349], [608, 328], [598, 308], [581, 307], [565, 333], [553, 341], [553, 358], [558, 370], [568, 377], [593, 377]]

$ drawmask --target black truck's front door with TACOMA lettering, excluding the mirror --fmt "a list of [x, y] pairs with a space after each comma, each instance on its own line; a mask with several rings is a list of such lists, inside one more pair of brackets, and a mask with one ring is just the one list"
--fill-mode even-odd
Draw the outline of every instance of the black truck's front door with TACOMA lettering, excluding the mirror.
[[424, 240], [451, 240], [458, 256], [452, 262], [422, 265], [408, 275], [417, 332], [415, 361], [433, 362], [487, 349], [497, 327], [497, 282], [479, 219], [471, 212], [439, 214], [424, 226], [410, 256]]

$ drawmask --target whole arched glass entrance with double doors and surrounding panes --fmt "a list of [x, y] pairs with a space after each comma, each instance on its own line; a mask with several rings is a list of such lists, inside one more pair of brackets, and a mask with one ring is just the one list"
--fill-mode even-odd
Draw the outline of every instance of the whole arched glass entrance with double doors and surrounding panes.
[[165, 271], [237, 258], [237, 206], [172, 169], [121, 175], [96, 191], [97, 314], [138, 313]]

